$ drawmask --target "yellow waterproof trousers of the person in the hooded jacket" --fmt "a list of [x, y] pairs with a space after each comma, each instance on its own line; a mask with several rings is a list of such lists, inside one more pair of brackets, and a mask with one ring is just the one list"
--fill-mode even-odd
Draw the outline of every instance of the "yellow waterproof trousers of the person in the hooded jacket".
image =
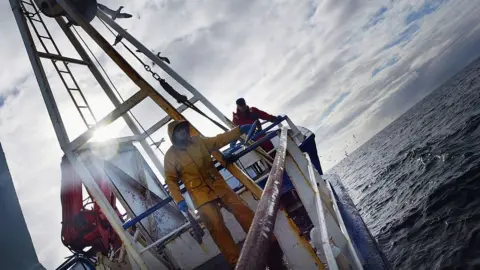
[[215, 241], [215, 244], [217, 244], [227, 261], [231, 265], [235, 265], [240, 256], [240, 249], [233, 240], [227, 226], [225, 226], [222, 213], [220, 212], [221, 205], [235, 216], [245, 233], [248, 233], [254, 213], [231, 189], [222, 198], [208, 202], [198, 208], [200, 218], [210, 232], [213, 241]]

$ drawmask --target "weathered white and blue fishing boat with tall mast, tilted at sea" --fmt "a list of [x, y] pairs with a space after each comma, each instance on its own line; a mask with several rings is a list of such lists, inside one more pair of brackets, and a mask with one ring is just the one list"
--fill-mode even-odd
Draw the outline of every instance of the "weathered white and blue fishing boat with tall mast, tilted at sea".
[[[64, 152], [61, 237], [72, 256], [57, 269], [230, 269], [183, 186], [189, 212], [182, 213], [172, 201], [163, 184], [162, 141], [152, 138], [170, 121], [184, 120], [188, 111], [223, 130], [233, 128], [232, 122], [175, 72], [168, 58], [147, 49], [134, 33], [117, 24], [118, 18], [128, 17], [121, 9], [110, 10], [96, 0], [10, 0], [10, 4]], [[102, 35], [93, 20], [112, 35]], [[58, 37], [51, 33], [60, 33], [68, 42], [56, 42]], [[120, 95], [87, 39], [136, 84], [133, 95]], [[144, 70], [135, 69], [114, 45], [123, 46], [128, 59]], [[61, 53], [66, 50], [78, 57]], [[55, 76], [46, 75], [47, 64], [54, 67], [56, 83], [52, 83]], [[75, 66], [88, 69], [92, 82], [114, 106], [101, 119], [89, 105]], [[188, 96], [174, 89], [173, 83]], [[69, 118], [55, 100], [57, 91], [68, 93], [80, 116], [84, 131], [76, 138], [68, 136], [66, 126], [71, 123], [66, 125]], [[144, 127], [133, 109], [147, 99], [165, 116]], [[172, 100], [180, 105], [173, 106]], [[116, 120], [123, 121], [132, 135], [92, 140]], [[190, 123], [198, 127], [201, 121]], [[226, 226], [242, 246], [236, 269], [265, 269], [268, 256], [273, 256], [269, 254], [273, 238], [283, 252], [276, 259], [288, 269], [389, 269], [339, 176], [323, 173], [315, 135], [286, 115], [258, 124], [263, 126], [260, 132], [252, 128], [237, 144], [212, 153], [218, 171], [255, 212], [245, 233], [222, 209]], [[275, 145], [269, 153], [260, 147], [266, 141]]]

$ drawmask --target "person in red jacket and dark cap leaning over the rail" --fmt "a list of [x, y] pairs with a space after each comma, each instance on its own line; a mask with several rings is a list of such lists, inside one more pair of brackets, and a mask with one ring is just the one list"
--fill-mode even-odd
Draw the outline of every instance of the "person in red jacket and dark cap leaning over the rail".
[[[258, 119], [274, 122], [278, 118], [278, 116], [273, 116], [255, 107], [248, 107], [244, 98], [237, 99], [236, 103], [237, 103], [237, 112], [233, 113], [233, 120], [232, 120], [235, 126], [251, 125]], [[260, 124], [260, 122], [258, 122], [257, 131], [260, 131], [260, 130], [262, 130], [262, 125]], [[260, 140], [262, 137], [263, 136], [259, 136], [255, 140], [256, 141]], [[266, 141], [262, 143], [261, 147], [267, 153], [274, 148], [271, 141]]]

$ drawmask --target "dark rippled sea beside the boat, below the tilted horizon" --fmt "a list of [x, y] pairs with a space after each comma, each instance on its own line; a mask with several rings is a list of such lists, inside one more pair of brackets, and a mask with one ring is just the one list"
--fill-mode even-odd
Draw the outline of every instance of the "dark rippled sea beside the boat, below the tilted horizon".
[[480, 60], [330, 172], [394, 269], [480, 269]]

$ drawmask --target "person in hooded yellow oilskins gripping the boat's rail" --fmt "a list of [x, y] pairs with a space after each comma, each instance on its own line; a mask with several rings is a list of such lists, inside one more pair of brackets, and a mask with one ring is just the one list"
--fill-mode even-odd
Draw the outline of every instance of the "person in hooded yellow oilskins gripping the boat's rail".
[[[190, 136], [190, 124], [187, 121], [173, 121], [168, 125], [172, 146], [165, 154], [164, 166], [170, 194], [180, 210], [188, 211], [178, 186], [178, 181], [181, 180], [210, 235], [232, 266], [237, 263], [240, 250], [225, 226], [220, 209], [225, 207], [230, 211], [245, 233], [248, 233], [254, 213], [217, 171], [211, 153], [233, 140], [238, 140], [250, 128], [251, 125], [243, 125], [215, 137], [201, 137]], [[269, 256], [276, 261], [269, 265], [280, 265], [271, 269], [283, 268], [279, 249], [278, 244], [271, 249], [273, 253], [280, 254], [280, 258]]]

